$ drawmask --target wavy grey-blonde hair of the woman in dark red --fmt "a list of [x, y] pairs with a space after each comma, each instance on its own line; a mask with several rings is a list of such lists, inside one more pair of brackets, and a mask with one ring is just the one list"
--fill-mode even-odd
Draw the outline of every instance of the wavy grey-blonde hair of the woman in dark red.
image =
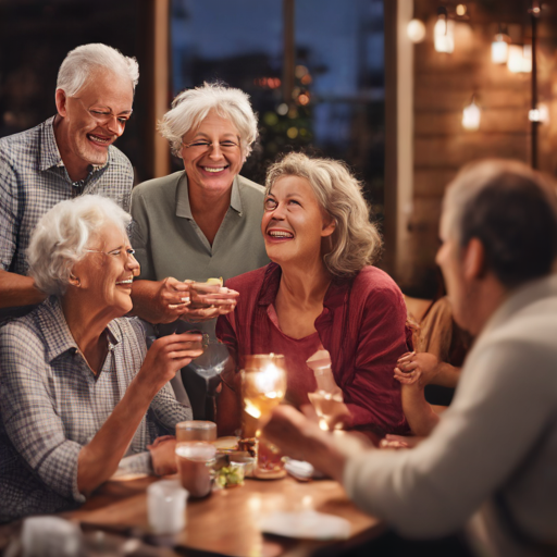
[[370, 210], [361, 194], [361, 184], [339, 161], [313, 159], [302, 153], [289, 153], [271, 165], [267, 174], [265, 193], [283, 176], [306, 178], [319, 203], [335, 221], [331, 237], [332, 249], [323, 261], [334, 276], [354, 276], [372, 264], [382, 250], [376, 226], [370, 222]]

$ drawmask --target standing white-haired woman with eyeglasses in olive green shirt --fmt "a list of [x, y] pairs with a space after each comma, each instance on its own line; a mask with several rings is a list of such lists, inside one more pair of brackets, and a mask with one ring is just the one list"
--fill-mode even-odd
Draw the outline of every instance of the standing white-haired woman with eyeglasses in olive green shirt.
[[[239, 175], [257, 117], [245, 92], [206, 83], [181, 92], [159, 129], [184, 170], [133, 191], [132, 242], [141, 264], [134, 314], [157, 324], [159, 335], [195, 327], [214, 338], [214, 318], [234, 308], [236, 293], [215, 286], [222, 299], [207, 307], [184, 281], [227, 280], [269, 262], [260, 232], [264, 189]], [[173, 386], [185, 399], [183, 386]]]

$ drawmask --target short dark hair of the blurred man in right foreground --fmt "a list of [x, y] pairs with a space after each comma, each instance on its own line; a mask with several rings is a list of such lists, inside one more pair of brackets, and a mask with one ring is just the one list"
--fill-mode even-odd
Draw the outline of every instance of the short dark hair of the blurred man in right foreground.
[[507, 288], [548, 274], [557, 256], [553, 181], [522, 162], [465, 166], [447, 188], [444, 213], [461, 246], [478, 238], [487, 269]]

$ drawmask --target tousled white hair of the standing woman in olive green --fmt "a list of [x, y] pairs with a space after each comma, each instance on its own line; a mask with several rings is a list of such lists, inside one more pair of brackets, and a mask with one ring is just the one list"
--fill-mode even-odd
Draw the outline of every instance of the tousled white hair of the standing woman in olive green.
[[240, 137], [242, 153], [246, 159], [257, 139], [257, 115], [249, 102], [249, 95], [218, 83], [203, 83], [195, 89], [182, 91], [172, 109], [159, 121], [158, 129], [169, 140], [172, 153], [181, 157], [182, 139], [207, 117], [210, 111], [232, 122]]

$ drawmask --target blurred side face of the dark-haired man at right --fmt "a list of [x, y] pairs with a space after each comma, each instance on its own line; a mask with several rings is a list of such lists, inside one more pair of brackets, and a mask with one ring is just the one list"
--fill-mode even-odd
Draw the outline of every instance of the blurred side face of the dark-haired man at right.
[[454, 233], [450, 231], [450, 211], [444, 210], [441, 216], [440, 237], [442, 245], [437, 251], [435, 262], [443, 271], [447, 296], [453, 308], [455, 321], [468, 330], [469, 285], [465, 278], [462, 264], [462, 248]]

